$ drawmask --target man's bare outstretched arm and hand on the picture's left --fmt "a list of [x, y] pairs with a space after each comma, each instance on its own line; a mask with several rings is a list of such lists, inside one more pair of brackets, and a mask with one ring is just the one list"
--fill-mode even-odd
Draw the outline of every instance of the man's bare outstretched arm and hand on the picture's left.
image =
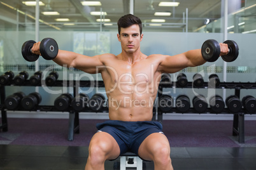
[[[35, 43], [31, 49], [32, 53], [40, 55], [39, 46], [40, 42]], [[95, 74], [96, 71], [100, 71], [96, 70], [96, 67], [104, 65], [101, 61], [101, 56], [102, 55], [85, 56], [71, 51], [59, 49], [58, 55], [53, 59], [53, 62], [63, 67], [74, 67], [84, 72]]]

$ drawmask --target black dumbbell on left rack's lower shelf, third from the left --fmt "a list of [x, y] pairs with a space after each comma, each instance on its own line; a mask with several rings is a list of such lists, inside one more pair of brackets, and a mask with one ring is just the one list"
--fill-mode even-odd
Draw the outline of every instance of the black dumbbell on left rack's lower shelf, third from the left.
[[68, 111], [68, 108], [72, 100], [73, 100], [73, 96], [70, 93], [63, 93], [62, 95], [60, 95], [55, 99], [54, 107], [60, 111], [64, 111], [64, 110]]

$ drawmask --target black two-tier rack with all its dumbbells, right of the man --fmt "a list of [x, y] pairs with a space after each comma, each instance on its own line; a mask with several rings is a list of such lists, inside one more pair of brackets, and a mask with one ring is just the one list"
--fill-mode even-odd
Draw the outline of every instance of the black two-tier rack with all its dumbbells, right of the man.
[[[178, 74], [176, 81], [171, 81], [171, 75], [162, 74], [158, 92], [157, 120], [162, 122], [163, 114], [232, 114], [232, 135], [238, 136], [239, 143], [245, 143], [245, 114], [256, 114], [255, 96], [247, 95], [240, 100], [241, 89], [256, 89], [255, 82], [220, 82], [217, 74], [211, 74], [209, 81], [204, 82], [201, 74], [194, 74], [192, 81], [187, 76]], [[163, 94], [163, 88], [216, 88], [234, 89], [234, 95], [213, 95], [209, 100], [206, 96], [196, 95], [190, 102], [187, 95], [178, 95], [175, 99], [171, 95]], [[192, 103], [192, 107], [190, 106]]]

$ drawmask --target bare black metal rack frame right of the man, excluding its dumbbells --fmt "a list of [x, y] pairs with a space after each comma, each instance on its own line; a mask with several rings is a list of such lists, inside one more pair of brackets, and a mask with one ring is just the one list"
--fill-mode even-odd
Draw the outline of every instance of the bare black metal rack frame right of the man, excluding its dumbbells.
[[[204, 82], [203, 86], [195, 87], [193, 85], [193, 82], [188, 82], [187, 86], [180, 87], [176, 82], [160, 82], [159, 84], [159, 91], [158, 96], [162, 96], [162, 90], [163, 88], [202, 88], [202, 89], [208, 89], [208, 82]], [[220, 82], [220, 85], [218, 87], [215, 87], [216, 89], [234, 89], [234, 95], [238, 96], [240, 98], [240, 90], [241, 89], [256, 89], [256, 83], [255, 82]], [[225, 99], [224, 99], [225, 101]], [[162, 122], [163, 120], [163, 114], [180, 114], [180, 112], [177, 110], [176, 107], [173, 107], [171, 109], [171, 112], [162, 112], [159, 108], [157, 108], [157, 121]], [[210, 114], [217, 114], [211, 110], [211, 108], [207, 108], [204, 114], [210, 113]], [[189, 110], [182, 114], [203, 114], [198, 113], [194, 108], [190, 107]], [[231, 113], [227, 108], [224, 108], [223, 112], [218, 114], [233, 114], [233, 127], [232, 127], [232, 136], [238, 136], [238, 142], [239, 143], [245, 143], [245, 114], [256, 114], [256, 113], [248, 113], [246, 112], [245, 108], [242, 108], [240, 112], [238, 113]]]

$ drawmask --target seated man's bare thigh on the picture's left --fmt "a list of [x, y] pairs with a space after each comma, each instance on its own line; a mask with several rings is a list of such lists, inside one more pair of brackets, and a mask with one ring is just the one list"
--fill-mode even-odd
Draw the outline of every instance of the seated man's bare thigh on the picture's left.
[[97, 132], [92, 136], [89, 150], [93, 150], [94, 148], [100, 148], [104, 153], [106, 153], [106, 158], [108, 160], [117, 159], [120, 155], [120, 148], [115, 138], [103, 131]]

